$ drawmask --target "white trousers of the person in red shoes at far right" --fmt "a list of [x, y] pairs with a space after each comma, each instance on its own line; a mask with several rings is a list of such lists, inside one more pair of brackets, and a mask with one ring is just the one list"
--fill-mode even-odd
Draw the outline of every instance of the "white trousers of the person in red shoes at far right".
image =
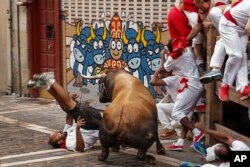
[[224, 43], [228, 60], [226, 62], [223, 83], [232, 86], [236, 77], [236, 90], [248, 85], [247, 77], [247, 42], [245, 30], [228, 21], [224, 16], [219, 23], [219, 32]]

